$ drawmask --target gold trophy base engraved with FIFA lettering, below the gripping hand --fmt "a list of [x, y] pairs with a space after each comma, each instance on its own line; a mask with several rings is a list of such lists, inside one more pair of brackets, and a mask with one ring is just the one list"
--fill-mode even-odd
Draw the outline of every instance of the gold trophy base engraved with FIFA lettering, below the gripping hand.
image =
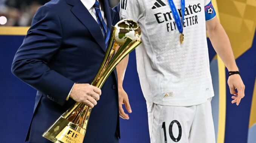
[[83, 143], [85, 129], [75, 125], [64, 117], [60, 117], [43, 137], [54, 143]]

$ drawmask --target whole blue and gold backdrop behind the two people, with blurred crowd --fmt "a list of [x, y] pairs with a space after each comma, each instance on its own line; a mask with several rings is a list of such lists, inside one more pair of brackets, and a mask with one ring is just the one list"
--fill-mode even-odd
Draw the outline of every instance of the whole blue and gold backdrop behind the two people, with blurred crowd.
[[[11, 74], [11, 63], [35, 12], [48, 1], [0, 0], [0, 142], [3, 143], [25, 140], [36, 91]], [[118, 2], [109, 0], [112, 7]], [[256, 0], [212, 2], [230, 38], [246, 87], [241, 104], [231, 104], [228, 71], [207, 39], [215, 95], [211, 103], [216, 142], [256, 143]], [[135, 51], [130, 54], [123, 84], [133, 113], [129, 120], [120, 120], [120, 143], [149, 143], [147, 109], [136, 71]]]

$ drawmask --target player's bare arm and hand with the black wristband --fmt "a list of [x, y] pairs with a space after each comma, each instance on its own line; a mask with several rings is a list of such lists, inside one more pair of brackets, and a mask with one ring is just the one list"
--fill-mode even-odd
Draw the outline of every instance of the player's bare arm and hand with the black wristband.
[[[221, 57], [228, 71], [238, 71], [228, 35], [217, 17], [206, 21], [206, 30], [214, 50]], [[234, 74], [228, 77], [228, 86], [230, 93], [234, 95], [231, 97], [234, 99], [232, 103], [236, 102], [236, 105], [239, 105], [241, 99], [244, 98], [245, 90], [245, 85], [240, 75]], [[235, 89], [237, 89], [237, 93]]]

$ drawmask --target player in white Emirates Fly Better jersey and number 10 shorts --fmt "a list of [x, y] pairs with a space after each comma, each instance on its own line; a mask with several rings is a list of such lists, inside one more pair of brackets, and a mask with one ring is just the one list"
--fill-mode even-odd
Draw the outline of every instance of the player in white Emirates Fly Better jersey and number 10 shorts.
[[[232, 103], [239, 105], [245, 86], [211, 0], [121, 0], [120, 18], [138, 22], [142, 30], [136, 59], [151, 143], [215, 143], [206, 33], [229, 71]], [[128, 119], [123, 101], [120, 116]]]

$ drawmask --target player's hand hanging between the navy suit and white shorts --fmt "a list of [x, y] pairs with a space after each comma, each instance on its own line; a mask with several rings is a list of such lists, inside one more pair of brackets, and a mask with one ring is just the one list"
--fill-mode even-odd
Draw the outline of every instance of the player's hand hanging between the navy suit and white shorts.
[[123, 90], [122, 87], [118, 88], [118, 97], [119, 97], [119, 116], [123, 119], [129, 119], [128, 114], [125, 113], [125, 111], [123, 110], [123, 104], [125, 104], [125, 108], [128, 111], [128, 113], [131, 113], [131, 105], [129, 103], [129, 99], [128, 99], [128, 95], [125, 92], [125, 90]]

